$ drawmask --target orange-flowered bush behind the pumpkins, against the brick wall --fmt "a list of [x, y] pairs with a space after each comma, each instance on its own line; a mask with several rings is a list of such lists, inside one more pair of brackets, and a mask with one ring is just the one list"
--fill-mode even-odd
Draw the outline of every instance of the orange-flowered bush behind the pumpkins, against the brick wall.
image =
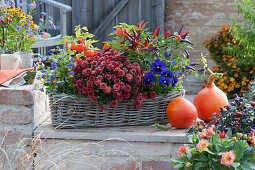
[[204, 43], [210, 52], [211, 58], [217, 64], [213, 70], [222, 72], [224, 75], [216, 85], [228, 97], [232, 97], [236, 93], [244, 93], [248, 90], [250, 88], [249, 83], [254, 79], [255, 70], [255, 63], [244, 64], [239, 62], [238, 56], [232, 55], [231, 49], [234, 47], [242, 48], [232, 34], [232, 29], [231, 25], [223, 25], [218, 33], [214, 34], [210, 40], [206, 40]]

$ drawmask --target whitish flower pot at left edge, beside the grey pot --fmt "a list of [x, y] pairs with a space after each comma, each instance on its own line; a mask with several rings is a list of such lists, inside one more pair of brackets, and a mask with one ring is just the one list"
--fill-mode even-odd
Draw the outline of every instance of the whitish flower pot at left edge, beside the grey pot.
[[1, 54], [1, 70], [18, 70], [21, 62], [18, 54]]

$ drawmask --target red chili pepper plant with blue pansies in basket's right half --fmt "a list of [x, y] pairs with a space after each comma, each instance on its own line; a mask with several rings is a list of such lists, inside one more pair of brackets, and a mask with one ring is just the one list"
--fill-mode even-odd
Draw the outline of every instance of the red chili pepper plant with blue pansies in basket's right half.
[[[147, 22], [142, 21], [138, 26], [121, 23], [115, 26], [116, 31], [110, 35], [116, 35], [114, 41], [107, 44], [115, 50], [127, 56], [130, 62], [139, 63], [147, 74], [143, 82], [157, 94], [167, 94], [171, 91], [181, 90], [182, 82], [188, 73], [194, 73], [194, 66], [200, 63], [191, 63], [187, 48], [193, 44], [188, 40], [188, 34], [179, 32], [160, 34], [157, 27], [154, 34], [145, 28]], [[183, 55], [175, 53], [182, 48]]]

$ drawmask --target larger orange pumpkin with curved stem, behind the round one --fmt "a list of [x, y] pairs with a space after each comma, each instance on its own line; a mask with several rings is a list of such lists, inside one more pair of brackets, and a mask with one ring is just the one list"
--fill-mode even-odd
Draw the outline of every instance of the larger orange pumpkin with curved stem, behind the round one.
[[197, 108], [198, 117], [202, 120], [210, 121], [213, 113], [220, 114], [220, 108], [228, 105], [226, 94], [214, 84], [214, 80], [222, 76], [221, 73], [211, 72], [206, 87], [195, 96], [193, 104]]

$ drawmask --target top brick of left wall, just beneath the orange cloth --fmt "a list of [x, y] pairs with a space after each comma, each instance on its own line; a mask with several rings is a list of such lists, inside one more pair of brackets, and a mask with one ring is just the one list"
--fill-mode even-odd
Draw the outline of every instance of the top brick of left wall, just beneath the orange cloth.
[[0, 104], [32, 105], [33, 103], [30, 90], [0, 88]]

